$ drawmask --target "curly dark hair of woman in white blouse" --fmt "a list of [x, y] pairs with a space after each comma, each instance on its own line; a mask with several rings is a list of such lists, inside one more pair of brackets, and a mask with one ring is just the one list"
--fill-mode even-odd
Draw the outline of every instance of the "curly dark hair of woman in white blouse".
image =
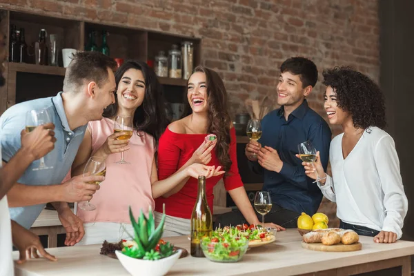
[[338, 107], [351, 114], [355, 128], [386, 126], [385, 99], [372, 79], [349, 67], [324, 70], [324, 85], [337, 95]]

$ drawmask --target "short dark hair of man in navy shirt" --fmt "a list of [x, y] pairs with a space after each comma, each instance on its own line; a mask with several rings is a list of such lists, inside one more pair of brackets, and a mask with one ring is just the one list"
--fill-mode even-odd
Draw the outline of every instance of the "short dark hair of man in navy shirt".
[[290, 59], [286, 59], [282, 66], [280, 66], [280, 72], [290, 72], [293, 75], [299, 75], [303, 88], [306, 86], [315, 87], [317, 82], [315, 63], [304, 57], [290, 57]]

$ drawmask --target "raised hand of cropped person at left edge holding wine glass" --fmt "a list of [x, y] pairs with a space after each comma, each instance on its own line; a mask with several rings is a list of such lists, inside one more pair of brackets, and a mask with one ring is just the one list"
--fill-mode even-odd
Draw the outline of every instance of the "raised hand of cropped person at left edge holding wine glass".
[[32, 132], [21, 130], [21, 150], [28, 152], [28, 158], [34, 160], [48, 154], [55, 148], [55, 125], [44, 124], [34, 128]]

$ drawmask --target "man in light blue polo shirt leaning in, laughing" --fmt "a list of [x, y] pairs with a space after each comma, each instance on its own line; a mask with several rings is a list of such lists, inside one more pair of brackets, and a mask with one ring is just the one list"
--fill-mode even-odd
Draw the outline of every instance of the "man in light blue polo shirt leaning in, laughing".
[[10, 217], [30, 228], [41, 210], [52, 202], [66, 228], [66, 245], [74, 245], [84, 235], [82, 221], [67, 202], [89, 200], [99, 186], [88, 184], [103, 177], [73, 177], [61, 184], [69, 172], [88, 121], [102, 118], [103, 109], [115, 101], [115, 61], [99, 52], [78, 52], [66, 69], [63, 92], [55, 97], [35, 99], [12, 106], [0, 117], [3, 164], [21, 147], [20, 132], [26, 126], [26, 112], [47, 109], [55, 124], [55, 149], [44, 157], [47, 170], [34, 161], [8, 192]]

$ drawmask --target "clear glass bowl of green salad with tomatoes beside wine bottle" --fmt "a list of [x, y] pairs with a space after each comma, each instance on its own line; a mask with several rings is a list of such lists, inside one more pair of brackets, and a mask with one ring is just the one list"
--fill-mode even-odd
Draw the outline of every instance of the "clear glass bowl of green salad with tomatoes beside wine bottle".
[[246, 237], [214, 235], [201, 240], [204, 255], [212, 262], [239, 262], [248, 248]]

